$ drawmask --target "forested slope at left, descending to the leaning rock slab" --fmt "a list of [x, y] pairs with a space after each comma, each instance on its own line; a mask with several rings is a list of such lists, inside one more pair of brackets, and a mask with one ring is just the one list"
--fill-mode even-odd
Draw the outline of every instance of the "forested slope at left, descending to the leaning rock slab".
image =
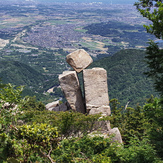
[[[52, 86], [58, 86], [57, 77], [50, 79], [46, 75], [42, 75], [32, 67], [18, 61], [0, 61], [0, 79], [3, 83], [11, 83], [16, 86], [25, 86], [23, 96], [36, 96], [37, 99], [45, 100], [43, 94]], [[58, 96], [58, 94], [57, 94]], [[50, 98], [50, 97], [46, 97]], [[53, 95], [54, 99], [54, 95]]]

